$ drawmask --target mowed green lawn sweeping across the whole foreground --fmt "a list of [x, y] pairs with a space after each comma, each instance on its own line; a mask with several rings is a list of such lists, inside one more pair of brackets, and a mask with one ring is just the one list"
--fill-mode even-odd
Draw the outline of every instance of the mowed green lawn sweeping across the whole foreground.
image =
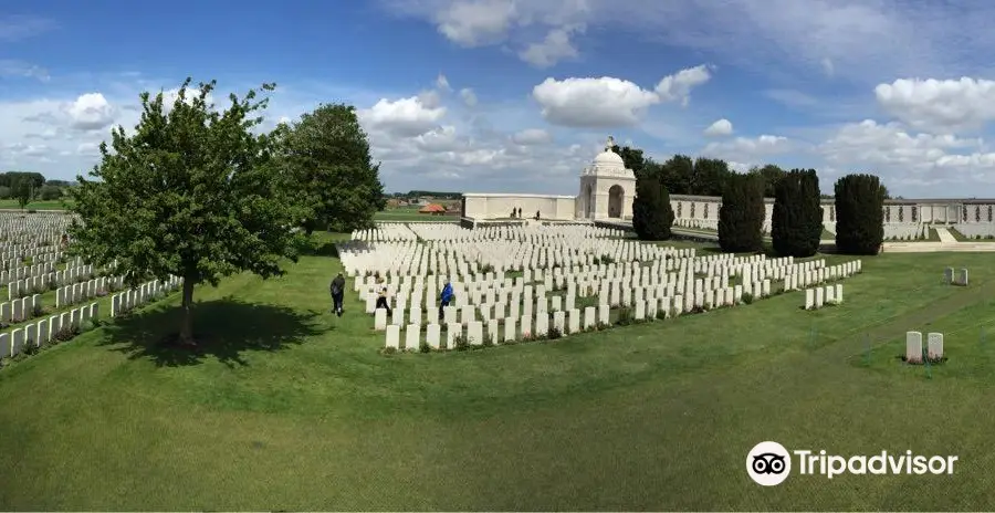
[[[0, 509], [992, 510], [988, 262], [886, 253], [817, 312], [794, 292], [381, 356], [355, 294], [344, 317], [327, 312], [338, 261], [306, 256], [282, 279], [198, 287], [201, 355], [153, 344], [176, 329], [174, 295], [0, 370]], [[943, 285], [945, 266], [968, 268], [971, 286]], [[946, 334], [931, 377], [897, 359], [908, 329]], [[745, 460], [764, 440], [960, 461], [763, 488]]]

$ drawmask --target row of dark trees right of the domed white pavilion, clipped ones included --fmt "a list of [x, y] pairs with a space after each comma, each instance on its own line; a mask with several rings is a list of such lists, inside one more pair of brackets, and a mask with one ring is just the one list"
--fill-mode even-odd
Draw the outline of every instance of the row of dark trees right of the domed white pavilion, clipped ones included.
[[632, 229], [642, 240], [672, 237], [670, 195], [720, 196], [719, 245], [725, 252], [764, 250], [764, 198], [774, 198], [773, 250], [782, 256], [811, 256], [823, 234], [821, 199], [834, 199], [836, 247], [846, 254], [877, 254], [884, 240], [883, 207], [888, 189], [872, 175], [839, 178], [834, 195], [819, 190], [815, 169], [784, 170], [774, 165], [740, 174], [721, 159], [677, 155], [664, 163], [641, 149], [615, 147], [636, 174]]

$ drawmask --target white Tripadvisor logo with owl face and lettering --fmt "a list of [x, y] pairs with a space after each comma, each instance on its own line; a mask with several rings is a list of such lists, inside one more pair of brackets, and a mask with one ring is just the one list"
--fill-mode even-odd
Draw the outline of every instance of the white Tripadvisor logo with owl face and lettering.
[[[792, 454], [795, 456], [794, 462]], [[913, 454], [910, 450], [898, 454], [881, 451], [880, 454], [850, 457], [827, 454], [825, 450], [788, 452], [781, 443], [766, 441], [757, 443], [746, 454], [746, 473], [757, 484], [776, 486], [792, 473], [792, 467], [797, 469], [799, 475], [824, 475], [826, 479], [845, 473], [939, 475], [952, 474], [957, 460], [955, 456], [925, 457]]]

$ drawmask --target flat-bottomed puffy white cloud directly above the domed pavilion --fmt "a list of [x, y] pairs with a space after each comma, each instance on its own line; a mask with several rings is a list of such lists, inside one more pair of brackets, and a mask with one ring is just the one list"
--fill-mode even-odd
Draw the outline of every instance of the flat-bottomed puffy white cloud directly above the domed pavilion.
[[589, 128], [636, 125], [650, 105], [660, 102], [652, 91], [610, 76], [546, 78], [532, 90], [532, 97], [547, 122]]

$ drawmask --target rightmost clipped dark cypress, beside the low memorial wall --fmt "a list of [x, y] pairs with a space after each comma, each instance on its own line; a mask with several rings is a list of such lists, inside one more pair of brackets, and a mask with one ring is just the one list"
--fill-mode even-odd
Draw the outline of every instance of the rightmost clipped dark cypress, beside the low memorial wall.
[[847, 175], [836, 181], [836, 250], [878, 254], [884, 240], [884, 186], [873, 175]]

